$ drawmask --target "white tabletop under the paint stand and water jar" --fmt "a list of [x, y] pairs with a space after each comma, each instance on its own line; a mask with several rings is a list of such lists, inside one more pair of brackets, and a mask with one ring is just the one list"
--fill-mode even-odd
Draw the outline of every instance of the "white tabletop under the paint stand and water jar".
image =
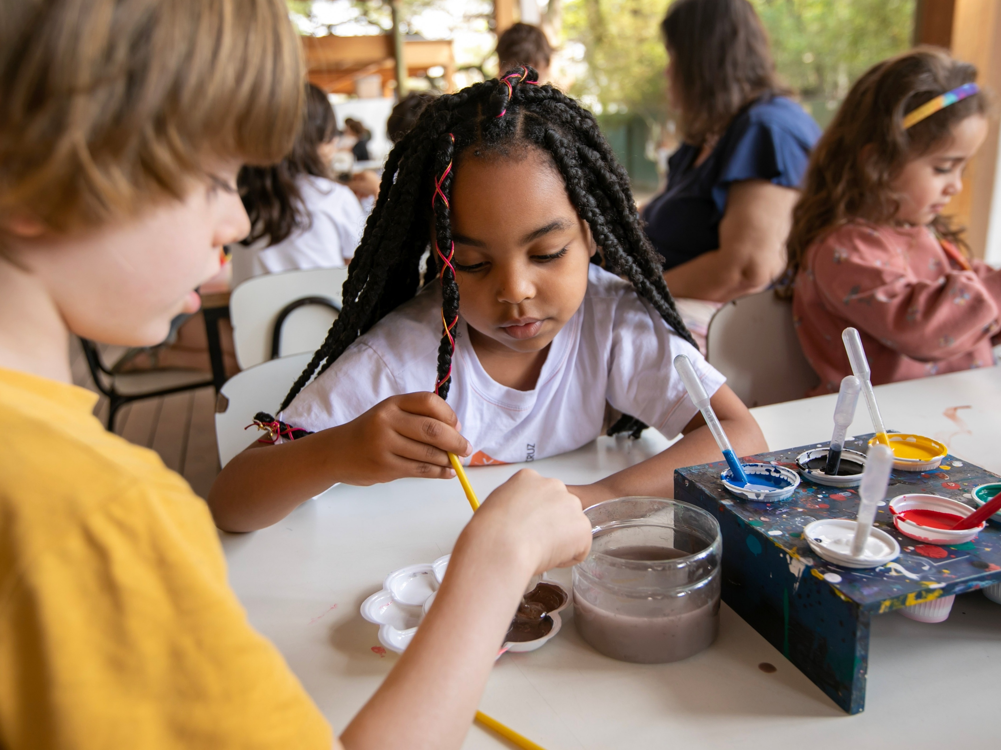
[[[1001, 473], [1001, 368], [876, 393], [889, 429], [943, 440], [955, 455]], [[821, 442], [830, 439], [835, 398], [754, 414], [773, 450]], [[870, 431], [860, 403], [850, 434]], [[639, 441], [600, 438], [533, 466], [568, 483], [591, 482], [666, 445], [648, 430]], [[522, 466], [468, 473], [483, 497]], [[396, 660], [371, 650], [379, 645], [376, 626], [361, 619], [358, 606], [389, 571], [447, 553], [469, 513], [458, 482], [407, 479], [337, 486], [268, 529], [222, 534], [230, 580], [251, 623], [281, 650], [335, 731]], [[569, 571], [556, 576], [569, 587]], [[563, 630], [542, 649], [497, 661], [480, 708], [547, 750], [930, 748], [957, 740], [964, 748], [1001, 746], [1001, 605], [979, 592], [957, 597], [940, 625], [896, 613], [874, 618], [866, 710], [857, 716], [846, 715], [726, 605], [721, 618], [720, 637], [706, 651], [674, 664], [637, 665], [587, 646], [568, 610]], [[778, 671], [764, 673], [761, 662]], [[961, 730], [940, 720], [949, 714], [962, 717]], [[463, 747], [511, 746], [473, 725]]]

